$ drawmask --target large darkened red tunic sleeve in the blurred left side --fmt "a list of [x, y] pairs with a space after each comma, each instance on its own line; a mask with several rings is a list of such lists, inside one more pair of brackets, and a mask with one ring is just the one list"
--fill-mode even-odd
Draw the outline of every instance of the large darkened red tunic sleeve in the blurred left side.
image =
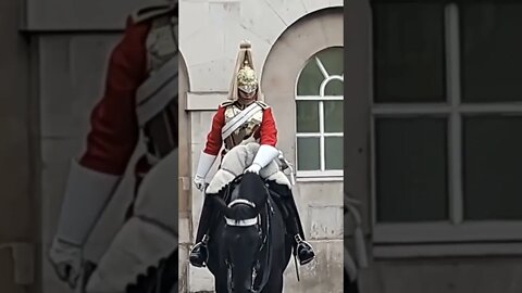
[[[146, 38], [151, 22], [134, 24], [130, 18], [122, 40], [111, 53], [105, 88], [90, 116], [84, 167], [123, 175], [134, 153], [139, 126], [136, 117], [136, 90], [147, 77]], [[138, 171], [150, 166], [141, 160]]]

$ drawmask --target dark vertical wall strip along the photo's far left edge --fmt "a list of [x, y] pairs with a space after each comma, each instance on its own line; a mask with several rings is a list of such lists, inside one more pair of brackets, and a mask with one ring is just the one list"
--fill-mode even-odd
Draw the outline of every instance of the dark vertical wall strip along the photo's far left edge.
[[33, 283], [34, 150], [30, 129], [29, 41], [18, 35], [21, 1], [0, 2], [0, 291]]

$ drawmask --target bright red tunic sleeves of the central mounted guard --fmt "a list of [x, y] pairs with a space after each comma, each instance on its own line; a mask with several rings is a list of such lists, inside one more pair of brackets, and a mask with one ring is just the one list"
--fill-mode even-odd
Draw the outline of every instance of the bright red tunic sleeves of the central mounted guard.
[[[207, 136], [207, 145], [203, 150], [207, 154], [217, 155], [221, 146], [223, 146], [221, 129], [225, 126], [225, 110], [226, 107], [220, 106], [214, 114], [212, 128]], [[277, 143], [277, 128], [275, 126], [274, 116], [272, 115], [272, 109], [269, 107], [263, 110], [261, 127], [259, 127], [256, 133], [253, 133], [253, 137], [259, 139], [260, 144], [269, 144], [275, 148], [275, 144]]]

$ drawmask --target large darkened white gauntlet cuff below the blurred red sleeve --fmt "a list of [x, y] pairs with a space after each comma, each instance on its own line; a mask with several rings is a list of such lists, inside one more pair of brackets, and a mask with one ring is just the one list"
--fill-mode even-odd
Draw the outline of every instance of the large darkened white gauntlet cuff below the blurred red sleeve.
[[82, 246], [112, 198], [121, 177], [99, 173], [73, 160], [57, 238]]

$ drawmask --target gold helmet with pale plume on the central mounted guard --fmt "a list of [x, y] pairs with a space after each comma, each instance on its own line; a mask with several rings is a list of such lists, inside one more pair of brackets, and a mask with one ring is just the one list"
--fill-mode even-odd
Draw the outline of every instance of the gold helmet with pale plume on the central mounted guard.
[[249, 41], [243, 41], [239, 44], [239, 52], [234, 68], [234, 77], [232, 79], [231, 91], [228, 92], [229, 100], [236, 101], [238, 98], [238, 90], [241, 90], [246, 93], [258, 91], [257, 100], [263, 101], [263, 95], [259, 89], [259, 79], [253, 65], [251, 48]]

